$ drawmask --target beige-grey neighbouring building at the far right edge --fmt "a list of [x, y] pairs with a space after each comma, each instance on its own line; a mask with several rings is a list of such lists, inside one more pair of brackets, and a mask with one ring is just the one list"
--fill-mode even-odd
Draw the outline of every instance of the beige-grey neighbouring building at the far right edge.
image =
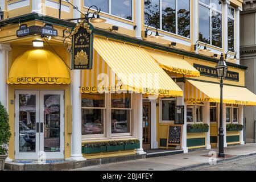
[[[245, 86], [255, 93], [255, 12], [256, 1], [243, 1], [241, 11], [241, 65], [251, 69], [245, 72]], [[248, 36], [250, 35], [250, 36]], [[251, 37], [251, 38], [249, 38]], [[255, 142], [255, 107], [245, 107], [246, 142]]]

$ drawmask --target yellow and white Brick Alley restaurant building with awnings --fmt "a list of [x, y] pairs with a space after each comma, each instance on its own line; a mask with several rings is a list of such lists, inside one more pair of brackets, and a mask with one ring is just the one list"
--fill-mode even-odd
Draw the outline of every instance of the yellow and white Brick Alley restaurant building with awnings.
[[[91, 69], [71, 69], [72, 43], [66, 36], [76, 26], [72, 19], [84, 17], [71, 4], [84, 14], [94, 5], [106, 20], [89, 24]], [[215, 66], [221, 53], [228, 65], [224, 144], [244, 143], [242, 130], [226, 129], [243, 125], [243, 106], [256, 104], [245, 88], [247, 67], [239, 61], [242, 1], [1, 0], [0, 6], [0, 101], [10, 114], [11, 160], [217, 147]], [[33, 47], [42, 40], [43, 47]], [[209, 129], [191, 130], [195, 124]], [[182, 126], [180, 141], [169, 141], [170, 126]]]

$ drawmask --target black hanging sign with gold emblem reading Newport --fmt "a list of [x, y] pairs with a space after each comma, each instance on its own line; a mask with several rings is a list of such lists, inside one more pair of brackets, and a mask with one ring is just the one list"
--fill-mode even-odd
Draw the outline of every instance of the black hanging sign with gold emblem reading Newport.
[[92, 25], [81, 21], [72, 31], [72, 69], [92, 69]]

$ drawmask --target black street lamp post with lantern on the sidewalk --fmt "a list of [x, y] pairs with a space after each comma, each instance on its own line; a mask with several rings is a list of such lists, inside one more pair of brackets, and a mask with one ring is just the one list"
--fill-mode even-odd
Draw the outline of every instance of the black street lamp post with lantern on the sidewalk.
[[222, 89], [223, 89], [223, 81], [226, 78], [226, 72], [228, 71], [228, 67], [226, 66], [226, 62], [224, 61], [223, 53], [221, 53], [220, 60], [215, 67], [218, 73], [218, 79], [220, 80], [220, 126], [218, 128], [218, 157], [225, 158], [224, 154], [224, 129], [223, 129], [223, 102], [222, 102]]

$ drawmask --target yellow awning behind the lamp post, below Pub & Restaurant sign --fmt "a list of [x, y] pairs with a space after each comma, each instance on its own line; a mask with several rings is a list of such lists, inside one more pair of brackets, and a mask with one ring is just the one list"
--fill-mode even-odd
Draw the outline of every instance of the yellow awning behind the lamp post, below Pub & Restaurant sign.
[[[187, 80], [185, 102], [220, 102], [220, 85]], [[223, 103], [256, 106], [256, 95], [245, 87], [223, 86]]]

